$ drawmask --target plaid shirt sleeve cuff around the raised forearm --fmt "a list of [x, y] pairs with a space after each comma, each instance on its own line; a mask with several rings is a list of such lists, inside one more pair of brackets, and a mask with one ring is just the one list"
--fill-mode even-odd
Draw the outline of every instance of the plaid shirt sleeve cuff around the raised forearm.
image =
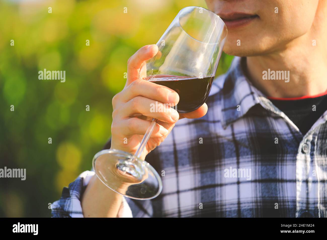
[[[94, 171], [82, 172], [74, 182], [69, 184], [68, 188], [62, 189], [61, 198], [52, 203], [52, 217], [84, 217], [80, 199], [94, 174]], [[123, 197], [117, 217], [132, 217], [125, 197]]]

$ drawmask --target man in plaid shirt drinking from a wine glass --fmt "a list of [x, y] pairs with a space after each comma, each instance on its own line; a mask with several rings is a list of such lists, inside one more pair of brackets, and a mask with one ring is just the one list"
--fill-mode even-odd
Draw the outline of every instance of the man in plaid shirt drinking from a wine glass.
[[155, 45], [129, 59], [126, 86], [112, 100], [114, 149], [136, 151], [150, 124], [138, 116], [160, 120], [142, 157], [165, 171], [162, 193], [128, 199], [86, 171], [64, 188], [53, 216], [327, 216], [327, 1], [206, 3], [227, 25], [224, 51], [239, 56], [207, 104], [150, 112], [152, 102], [179, 101], [138, 79]]

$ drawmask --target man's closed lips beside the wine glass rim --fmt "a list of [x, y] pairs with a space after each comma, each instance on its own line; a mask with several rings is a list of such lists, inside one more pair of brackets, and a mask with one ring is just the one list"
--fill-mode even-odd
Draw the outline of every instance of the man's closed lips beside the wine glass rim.
[[228, 14], [217, 13], [217, 15], [224, 21], [228, 29], [245, 26], [247, 24], [250, 24], [256, 19], [259, 19], [259, 16], [256, 14], [239, 13], [239, 12], [232, 12]]

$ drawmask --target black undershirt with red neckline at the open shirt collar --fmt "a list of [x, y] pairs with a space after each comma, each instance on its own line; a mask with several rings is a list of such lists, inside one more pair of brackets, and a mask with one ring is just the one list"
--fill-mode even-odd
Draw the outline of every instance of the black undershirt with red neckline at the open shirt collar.
[[[270, 101], [300, 129], [305, 135], [313, 124], [327, 110], [327, 94], [314, 98], [299, 100], [275, 100]], [[316, 105], [316, 111], [313, 111]]]

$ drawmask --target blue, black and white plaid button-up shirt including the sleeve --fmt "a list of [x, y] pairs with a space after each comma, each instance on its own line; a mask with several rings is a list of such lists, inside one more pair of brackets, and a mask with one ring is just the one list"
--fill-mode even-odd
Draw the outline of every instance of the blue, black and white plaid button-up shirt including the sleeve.
[[[214, 81], [205, 116], [179, 120], [146, 156], [164, 170], [162, 193], [125, 198], [118, 216], [327, 216], [327, 111], [303, 136], [251, 85], [244, 60]], [[93, 174], [63, 189], [53, 216], [83, 216], [79, 199]]]

